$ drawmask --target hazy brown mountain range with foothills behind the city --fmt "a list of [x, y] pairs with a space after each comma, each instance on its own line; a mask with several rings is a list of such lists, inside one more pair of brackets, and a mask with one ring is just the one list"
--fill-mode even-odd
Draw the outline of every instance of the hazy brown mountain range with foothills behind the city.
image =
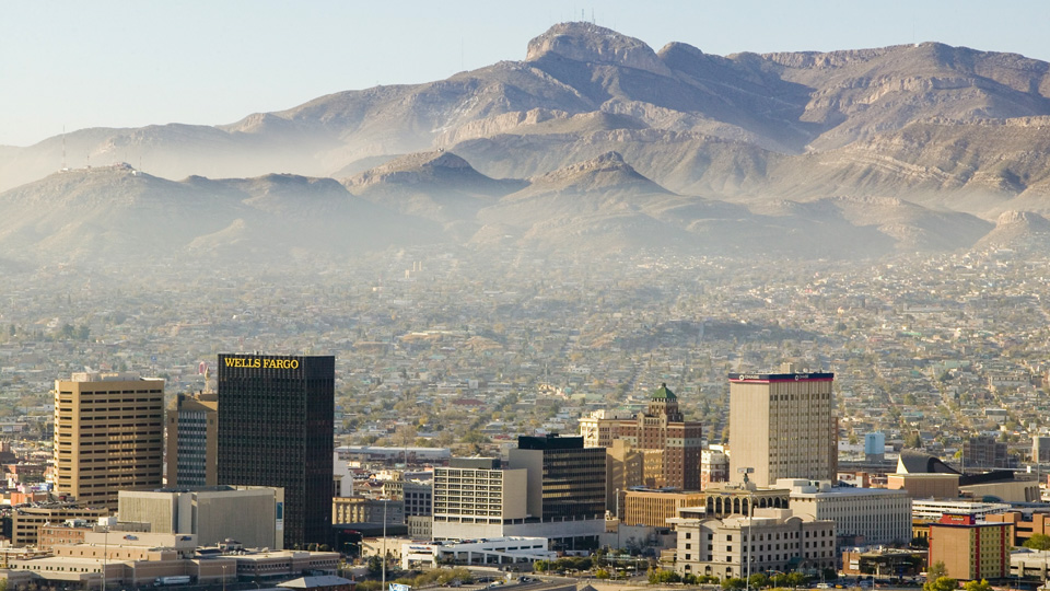
[[447, 80], [0, 148], [0, 258], [1045, 248], [1048, 71], [935, 43], [654, 51], [565, 23]]

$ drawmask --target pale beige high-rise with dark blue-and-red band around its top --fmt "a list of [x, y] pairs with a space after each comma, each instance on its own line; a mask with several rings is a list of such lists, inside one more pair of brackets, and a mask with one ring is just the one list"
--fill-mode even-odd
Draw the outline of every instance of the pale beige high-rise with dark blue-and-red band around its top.
[[745, 471], [758, 486], [777, 478], [830, 480], [835, 455], [833, 373], [730, 374], [730, 482]]

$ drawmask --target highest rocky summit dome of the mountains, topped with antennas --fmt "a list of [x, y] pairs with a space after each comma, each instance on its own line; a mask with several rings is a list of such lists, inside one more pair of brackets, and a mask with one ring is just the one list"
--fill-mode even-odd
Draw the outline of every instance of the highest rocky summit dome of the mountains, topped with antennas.
[[670, 70], [644, 42], [592, 23], [559, 23], [528, 42], [525, 61], [549, 55], [587, 63], [609, 63], [661, 76]]

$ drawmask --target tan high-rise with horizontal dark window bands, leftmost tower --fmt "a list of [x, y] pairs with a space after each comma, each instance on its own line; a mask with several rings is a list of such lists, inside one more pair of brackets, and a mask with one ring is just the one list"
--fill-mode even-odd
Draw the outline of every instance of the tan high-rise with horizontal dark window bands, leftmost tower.
[[117, 491], [161, 486], [164, 380], [74, 373], [55, 382], [55, 488], [117, 509]]

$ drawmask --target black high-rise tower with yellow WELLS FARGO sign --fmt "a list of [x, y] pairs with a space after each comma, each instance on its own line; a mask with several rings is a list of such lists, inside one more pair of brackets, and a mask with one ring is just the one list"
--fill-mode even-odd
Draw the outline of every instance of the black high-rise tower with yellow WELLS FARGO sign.
[[282, 487], [287, 548], [329, 542], [335, 381], [331, 356], [219, 356], [219, 484]]

